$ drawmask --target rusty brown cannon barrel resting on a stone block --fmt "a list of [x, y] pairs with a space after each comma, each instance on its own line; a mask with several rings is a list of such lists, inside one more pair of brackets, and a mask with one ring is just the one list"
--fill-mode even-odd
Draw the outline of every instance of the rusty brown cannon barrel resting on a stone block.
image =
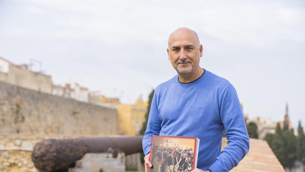
[[34, 146], [32, 161], [40, 172], [67, 172], [86, 153], [111, 152], [116, 157], [117, 149], [125, 155], [143, 152], [142, 139], [143, 136], [47, 139]]

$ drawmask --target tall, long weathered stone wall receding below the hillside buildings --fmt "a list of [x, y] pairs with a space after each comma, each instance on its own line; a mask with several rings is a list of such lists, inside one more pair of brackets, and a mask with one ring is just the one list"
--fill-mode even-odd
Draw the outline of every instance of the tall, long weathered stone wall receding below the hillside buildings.
[[117, 135], [117, 111], [0, 81], [0, 133]]

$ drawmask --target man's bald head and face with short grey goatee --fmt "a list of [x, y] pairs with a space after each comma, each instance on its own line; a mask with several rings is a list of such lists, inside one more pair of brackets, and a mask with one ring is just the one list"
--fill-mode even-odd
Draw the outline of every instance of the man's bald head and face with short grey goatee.
[[178, 73], [191, 73], [199, 66], [203, 47], [192, 30], [180, 29], [168, 40], [168, 59]]

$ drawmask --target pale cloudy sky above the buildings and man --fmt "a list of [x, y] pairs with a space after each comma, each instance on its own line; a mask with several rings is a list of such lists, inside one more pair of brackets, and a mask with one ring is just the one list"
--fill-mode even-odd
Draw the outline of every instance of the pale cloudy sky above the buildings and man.
[[176, 75], [171, 32], [188, 27], [203, 45], [199, 65], [231, 82], [245, 114], [305, 126], [305, 2], [0, 0], [0, 56], [53, 84], [133, 104]]

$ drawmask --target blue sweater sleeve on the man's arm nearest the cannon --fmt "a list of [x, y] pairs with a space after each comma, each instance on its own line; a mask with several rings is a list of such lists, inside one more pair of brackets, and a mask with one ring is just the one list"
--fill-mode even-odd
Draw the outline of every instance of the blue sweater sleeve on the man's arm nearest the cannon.
[[157, 90], [155, 91], [152, 98], [152, 104], [149, 111], [147, 128], [142, 140], [142, 146], [145, 155], [147, 155], [148, 152], [150, 151], [152, 136], [159, 135], [161, 130], [161, 120], [159, 118], [159, 113], [157, 108], [156, 92]]

